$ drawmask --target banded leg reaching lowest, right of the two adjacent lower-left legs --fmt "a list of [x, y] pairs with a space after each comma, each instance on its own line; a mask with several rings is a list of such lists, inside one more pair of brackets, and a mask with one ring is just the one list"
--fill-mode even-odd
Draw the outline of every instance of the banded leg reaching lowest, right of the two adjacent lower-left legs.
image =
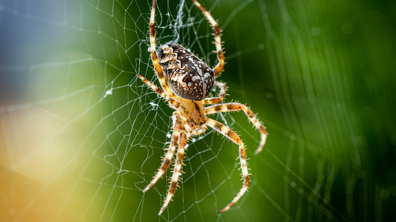
[[167, 208], [169, 202], [172, 200], [172, 197], [175, 194], [177, 182], [179, 181], [179, 173], [181, 172], [181, 167], [184, 157], [184, 146], [186, 146], [186, 140], [187, 140], [186, 131], [184, 129], [184, 123], [182, 123], [180, 127], [179, 147], [177, 149], [176, 164], [172, 174], [171, 186], [169, 187], [167, 198], [165, 198], [165, 202], [163, 203], [163, 206], [159, 211], [158, 215], [161, 215], [163, 210]]

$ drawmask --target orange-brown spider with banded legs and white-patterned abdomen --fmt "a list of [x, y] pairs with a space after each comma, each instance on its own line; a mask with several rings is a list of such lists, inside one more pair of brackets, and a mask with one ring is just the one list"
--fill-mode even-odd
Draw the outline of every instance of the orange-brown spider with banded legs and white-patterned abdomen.
[[[173, 159], [176, 146], [178, 146], [171, 184], [167, 197], [165, 198], [164, 204], [158, 215], [161, 215], [163, 210], [168, 206], [175, 193], [179, 180], [179, 173], [181, 172], [186, 140], [190, 136], [204, 133], [207, 130], [207, 126], [212, 127], [239, 145], [239, 159], [242, 170], [243, 186], [233, 201], [220, 210], [219, 213], [223, 213], [234, 205], [249, 187], [249, 173], [246, 162], [245, 145], [233, 130], [216, 120], [208, 118], [207, 115], [243, 110], [250, 122], [253, 123], [261, 134], [260, 144], [255, 151], [255, 154], [260, 153], [267, 139], [265, 127], [262, 126], [249, 107], [238, 102], [219, 104], [223, 101], [225, 91], [227, 89], [225, 83], [215, 80], [224, 66], [224, 55], [220, 41], [220, 29], [217, 22], [200, 3], [195, 0], [192, 0], [192, 2], [201, 9], [202, 13], [213, 27], [215, 39], [214, 44], [216, 46], [218, 59], [217, 65], [212, 69], [209, 68], [201, 59], [197, 58], [183, 46], [177, 44], [168, 43], [160, 46], [159, 50], [156, 51], [154, 25], [156, 0], [154, 0], [153, 7], [151, 9], [149, 27], [151, 61], [154, 65], [154, 71], [161, 85], [161, 89], [138, 74], [138, 77], [152, 90], [154, 90], [154, 92], [166, 99], [169, 102], [169, 105], [176, 109], [172, 115], [173, 132], [170, 147], [165, 154], [158, 172], [143, 191], [147, 192], [167, 170], [171, 160]], [[214, 85], [220, 88], [219, 96], [206, 98]], [[204, 106], [208, 104], [215, 105]]]

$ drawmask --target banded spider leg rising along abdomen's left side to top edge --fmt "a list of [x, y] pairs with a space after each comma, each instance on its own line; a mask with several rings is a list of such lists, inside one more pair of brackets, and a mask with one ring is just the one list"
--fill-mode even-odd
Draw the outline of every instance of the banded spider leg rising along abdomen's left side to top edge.
[[173, 92], [171, 91], [171, 89], [169, 88], [167, 82], [165, 81], [164, 77], [163, 77], [163, 72], [162, 72], [162, 68], [159, 65], [158, 62], [158, 57], [156, 54], [156, 45], [155, 45], [155, 25], [154, 25], [154, 21], [155, 21], [155, 4], [156, 4], [156, 0], [153, 1], [153, 8], [151, 9], [151, 16], [150, 16], [150, 48], [151, 48], [151, 61], [153, 62], [154, 65], [154, 70], [155, 73], [157, 74], [158, 80], [159, 80], [159, 84], [161, 85], [162, 89], [170, 96], [173, 96]]

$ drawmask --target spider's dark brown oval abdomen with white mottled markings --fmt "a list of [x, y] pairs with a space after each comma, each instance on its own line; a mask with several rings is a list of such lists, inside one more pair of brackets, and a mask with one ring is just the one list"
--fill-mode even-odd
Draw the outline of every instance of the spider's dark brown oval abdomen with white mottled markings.
[[157, 51], [165, 81], [177, 96], [203, 100], [213, 88], [214, 72], [186, 48], [166, 44]]

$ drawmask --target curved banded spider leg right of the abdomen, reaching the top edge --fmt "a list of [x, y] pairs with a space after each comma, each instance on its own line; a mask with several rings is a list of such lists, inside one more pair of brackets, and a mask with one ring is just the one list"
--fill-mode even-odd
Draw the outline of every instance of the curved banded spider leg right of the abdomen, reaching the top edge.
[[208, 11], [204, 7], [201, 6], [200, 3], [196, 2], [195, 0], [192, 0], [192, 2], [201, 9], [202, 13], [205, 15], [205, 17], [209, 20], [210, 24], [213, 27], [213, 31], [215, 34], [215, 45], [216, 45], [216, 52], [217, 52], [217, 59], [219, 60], [219, 63], [213, 68], [214, 71], [214, 78], [216, 79], [217, 76], [220, 74], [221, 70], [223, 70], [224, 67], [224, 54], [223, 54], [223, 49], [221, 48], [221, 39], [220, 39], [220, 28], [217, 22], [213, 19], [213, 17], [210, 15]]

